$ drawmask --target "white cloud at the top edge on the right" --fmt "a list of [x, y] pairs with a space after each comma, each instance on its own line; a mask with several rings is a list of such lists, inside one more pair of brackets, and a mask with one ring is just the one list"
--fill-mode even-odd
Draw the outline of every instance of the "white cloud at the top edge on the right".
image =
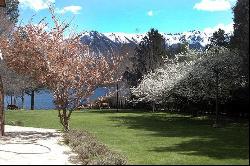
[[194, 9], [204, 11], [225, 11], [232, 8], [235, 0], [201, 0], [194, 5]]

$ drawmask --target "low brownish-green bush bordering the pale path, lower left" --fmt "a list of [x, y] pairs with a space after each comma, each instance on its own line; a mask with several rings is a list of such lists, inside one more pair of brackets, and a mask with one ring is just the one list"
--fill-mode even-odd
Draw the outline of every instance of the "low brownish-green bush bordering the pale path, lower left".
[[77, 154], [76, 160], [84, 165], [125, 165], [127, 163], [124, 156], [109, 150], [87, 131], [71, 130], [64, 134], [64, 142]]

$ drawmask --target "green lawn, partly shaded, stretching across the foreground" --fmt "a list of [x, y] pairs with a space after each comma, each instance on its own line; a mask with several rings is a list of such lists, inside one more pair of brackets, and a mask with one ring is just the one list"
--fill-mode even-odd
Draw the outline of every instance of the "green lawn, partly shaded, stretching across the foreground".
[[[61, 129], [56, 111], [7, 111], [6, 122]], [[71, 128], [86, 129], [129, 164], [249, 164], [249, 123], [212, 128], [208, 119], [171, 113], [78, 111]]]

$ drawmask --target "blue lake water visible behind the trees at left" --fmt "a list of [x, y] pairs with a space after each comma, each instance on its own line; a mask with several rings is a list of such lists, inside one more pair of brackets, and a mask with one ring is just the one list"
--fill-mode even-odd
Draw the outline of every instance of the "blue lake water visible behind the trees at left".
[[[107, 88], [97, 88], [92, 96], [90, 96], [90, 100], [95, 100], [100, 96], [105, 96], [108, 93]], [[5, 96], [4, 106], [7, 107], [10, 104], [10, 96]], [[21, 108], [22, 101], [21, 98], [16, 98], [16, 103], [19, 108]], [[30, 96], [24, 96], [24, 109], [30, 109]], [[35, 93], [35, 109], [36, 110], [49, 110], [55, 109], [55, 105], [53, 103], [53, 96], [50, 91], [43, 90]]]

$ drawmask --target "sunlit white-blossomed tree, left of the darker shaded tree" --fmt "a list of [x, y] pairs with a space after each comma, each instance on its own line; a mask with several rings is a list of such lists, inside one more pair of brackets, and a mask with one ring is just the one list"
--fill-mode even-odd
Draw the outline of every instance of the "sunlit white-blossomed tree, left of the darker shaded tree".
[[[174, 60], [165, 60], [163, 67], [145, 75], [141, 83], [132, 88], [132, 94], [138, 97], [138, 101], [150, 102], [154, 111], [155, 104], [162, 103], [163, 98], [171, 96], [176, 85], [192, 70], [198, 57], [199, 52], [188, 50], [185, 54], [177, 55]], [[188, 61], [179, 62], [180, 59]]]

